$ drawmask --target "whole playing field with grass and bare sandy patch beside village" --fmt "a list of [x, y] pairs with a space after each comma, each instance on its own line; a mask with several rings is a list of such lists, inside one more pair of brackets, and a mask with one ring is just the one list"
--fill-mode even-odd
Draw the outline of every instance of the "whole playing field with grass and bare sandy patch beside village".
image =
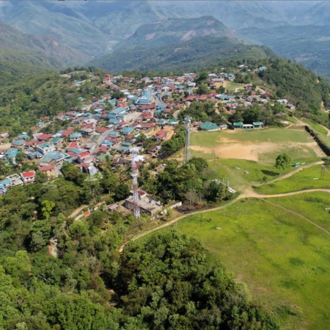
[[[281, 174], [274, 167], [276, 157], [285, 152], [296, 161], [311, 163], [324, 153], [303, 129], [267, 128], [251, 131], [227, 130], [194, 132], [191, 153], [209, 161], [209, 177], [224, 179], [237, 190], [269, 181]], [[285, 172], [290, 172], [289, 168]]]

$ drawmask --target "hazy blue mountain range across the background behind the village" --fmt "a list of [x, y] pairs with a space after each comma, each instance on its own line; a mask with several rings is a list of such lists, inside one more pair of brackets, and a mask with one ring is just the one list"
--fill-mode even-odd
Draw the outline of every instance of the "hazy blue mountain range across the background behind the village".
[[330, 76], [329, 17], [330, 4], [318, 0], [0, 1], [0, 20], [16, 29], [0, 26], [0, 59], [25, 57], [29, 64], [59, 68], [103, 63], [129, 50], [130, 68], [139, 57], [133, 47], [159, 56], [171, 47], [196, 49], [193, 38], [211, 37], [214, 45], [214, 38], [226, 37], [226, 45], [229, 39], [263, 44]]

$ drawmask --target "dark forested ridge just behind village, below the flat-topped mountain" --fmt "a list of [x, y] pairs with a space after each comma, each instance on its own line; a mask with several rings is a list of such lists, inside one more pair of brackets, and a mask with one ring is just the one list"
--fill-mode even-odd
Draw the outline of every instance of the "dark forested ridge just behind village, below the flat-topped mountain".
[[162, 47], [126, 47], [90, 65], [118, 73], [124, 70], [195, 71], [213, 63], [258, 60], [277, 55], [267, 47], [239, 44], [228, 37], [196, 37]]

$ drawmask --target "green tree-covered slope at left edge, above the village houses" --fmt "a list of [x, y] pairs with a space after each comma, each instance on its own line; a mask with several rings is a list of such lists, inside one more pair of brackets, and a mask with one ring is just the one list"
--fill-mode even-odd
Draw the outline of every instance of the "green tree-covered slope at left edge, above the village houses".
[[[0, 128], [8, 130], [10, 136], [21, 134], [34, 126], [41, 117], [53, 117], [60, 112], [79, 107], [78, 97], [101, 96], [106, 88], [98, 87], [102, 70], [95, 70], [96, 79], [89, 80], [81, 87], [73, 85], [70, 78], [56, 73], [47, 73], [21, 79], [0, 91]], [[110, 90], [109, 90], [110, 91]], [[19, 119], [19, 120], [18, 120]], [[68, 122], [56, 122], [57, 129]], [[53, 127], [54, 128], [54, 127]]]

